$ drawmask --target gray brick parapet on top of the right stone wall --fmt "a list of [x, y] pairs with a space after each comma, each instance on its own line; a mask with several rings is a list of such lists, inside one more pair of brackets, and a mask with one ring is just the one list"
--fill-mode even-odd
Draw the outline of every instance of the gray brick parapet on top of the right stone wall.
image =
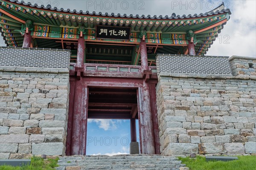
[[160, 73], [232, 75], [229, 57], [158, 54]]

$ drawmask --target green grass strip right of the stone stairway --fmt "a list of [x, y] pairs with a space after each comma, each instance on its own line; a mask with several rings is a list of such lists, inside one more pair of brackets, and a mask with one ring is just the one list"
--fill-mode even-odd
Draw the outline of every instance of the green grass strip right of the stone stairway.
[[197, 156], [179, 159], [189, 170], [256, 170], [256, 156], [238, 156], [235, 161], [206, 161], [205, 157]]

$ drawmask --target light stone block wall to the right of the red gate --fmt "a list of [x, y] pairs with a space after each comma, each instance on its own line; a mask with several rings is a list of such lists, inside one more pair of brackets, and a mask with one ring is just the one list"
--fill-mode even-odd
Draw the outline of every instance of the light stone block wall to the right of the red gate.
[[[256, 153], [256, 59], [231, 57], [233, 75], [227, 74], [227, 70], [223, 74], [218, 70], [216, 74], [185, 74], [161, 62], [172, 57], [157, 56], [161, 153]], [[186, 58], [182, 57], [183, 65], [187, 64]], [[197, 60], [200, 68], [200, 57]], [[211, 67], [217, 65], [212, 63], [205, 63], [205, 69], [214, 70]], [[193, 69], [197, 66], [187, 68]]]

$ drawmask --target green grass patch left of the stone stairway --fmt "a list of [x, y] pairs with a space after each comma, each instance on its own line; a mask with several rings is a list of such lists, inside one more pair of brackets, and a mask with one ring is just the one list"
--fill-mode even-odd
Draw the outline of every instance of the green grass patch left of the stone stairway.
[[31, 164], [22, 167], [0, 166], [0, 170], [54, 170], [58, 167], [58, 158], [56, 159], [42, 159], [40, 157], [32, 157]]

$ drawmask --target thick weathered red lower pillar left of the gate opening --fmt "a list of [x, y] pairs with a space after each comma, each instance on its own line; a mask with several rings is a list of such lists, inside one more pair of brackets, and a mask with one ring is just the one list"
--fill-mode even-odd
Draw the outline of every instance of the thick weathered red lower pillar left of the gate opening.
[[82, 80], [76, 80], [74, 93], [70, 155], [85, 155], [88, 88]]

